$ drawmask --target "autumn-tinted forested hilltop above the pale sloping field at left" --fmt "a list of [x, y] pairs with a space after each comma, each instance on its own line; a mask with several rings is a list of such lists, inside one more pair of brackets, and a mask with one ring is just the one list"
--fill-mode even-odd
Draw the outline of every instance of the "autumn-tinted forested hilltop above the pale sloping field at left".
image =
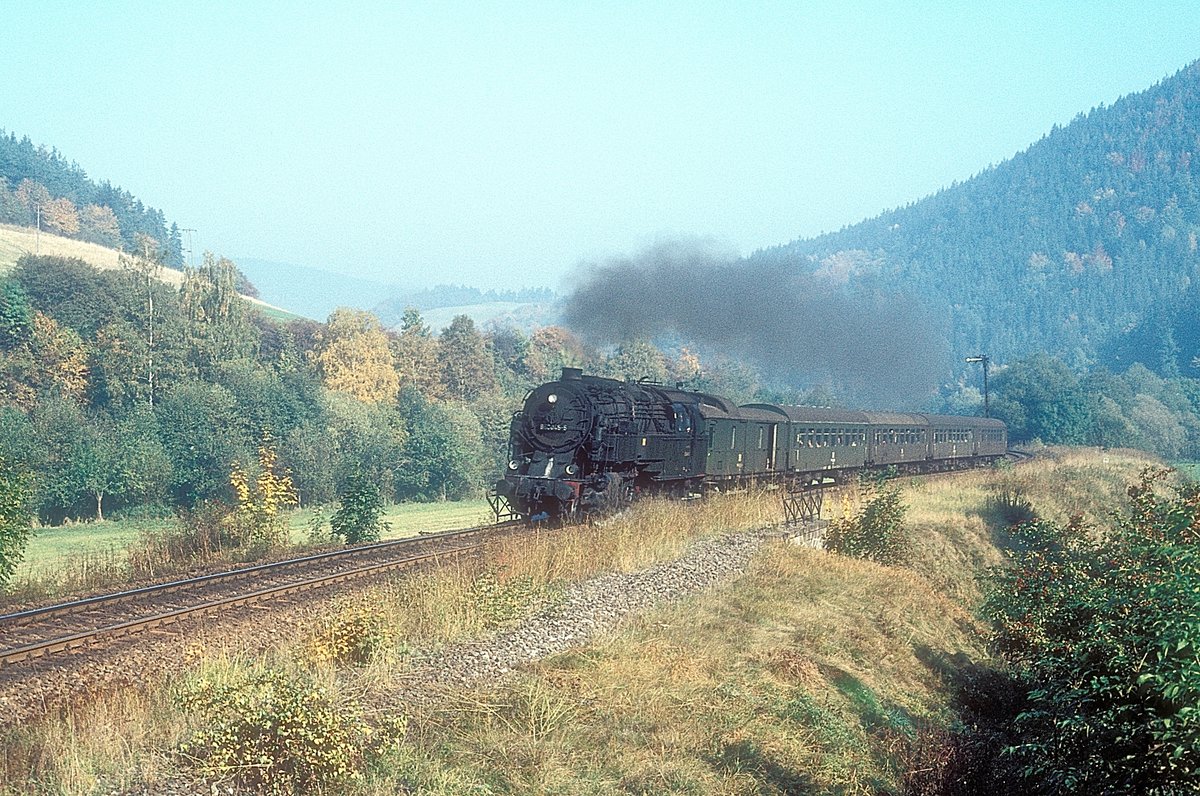
[[41, 228], [112, 249], [138, 251], [139, 237], [155, 241], [163, 264], [184, 264], [178, 225], [161, 210], [104, 180], [95, 182], [56, 149], [0, 130], [0, 223]]

